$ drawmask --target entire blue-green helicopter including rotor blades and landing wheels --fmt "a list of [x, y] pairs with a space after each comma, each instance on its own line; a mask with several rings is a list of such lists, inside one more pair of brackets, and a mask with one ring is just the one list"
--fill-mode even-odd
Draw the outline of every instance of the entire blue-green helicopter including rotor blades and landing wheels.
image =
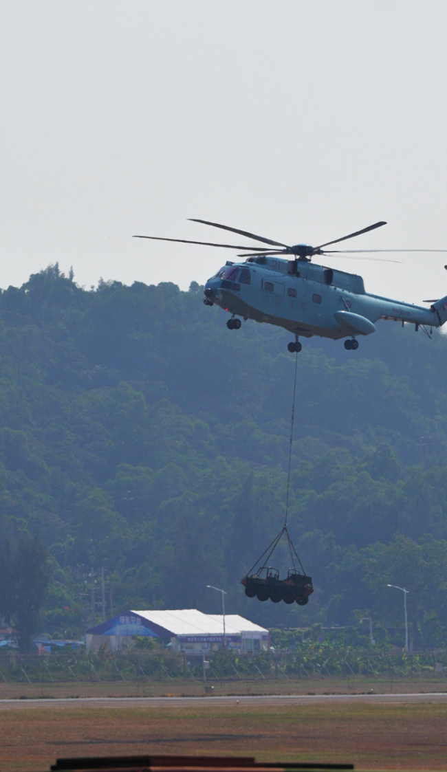
[[447, 252], [447, 249], [326, 249], [381, 228], [386, 222], [374, 222], [374, 225], [316, 247], [307, 244], [288, 246], [217, 222], [195, 218], [191, 218], [191, 222], [211, 225], [268, 245], [236, 246], [160, 236], [134, 237], [243, 250], [244, 253], [238, 255], [244, 258], [241, 262], [228, 260], [205, 284], [205, 305], [216, 304], [231, 314], [226, 323], [229, 330], [239, 330], [241, 320], [238, 317], [242, 317], [245, 321], [252, 319], [289, 330], [295, 336], [287, 346], [290, 352], [301, 350], [300, 336], [310, 338], [313, 335], [333, 340], [346, 338], [344, 347], [355, 351], [357, 337], [374, 333], [379, 319], [401, 321], [402, 327], [405, 323], [414, 324], [416, 332], [421, 327], [428, 337], [431, 337], [433, 327], [442, 327], [447, 320], [447, 296], [441, 300], [425, 300], [424, 303], [432, 303], [428, 308], [390, 300], [366, 293], [361, 276], [312, 262], [316, 256], [332, 259], [339, 255], [358, 255], [357, 259], [374, 259], [360, 256], [365, 252]]

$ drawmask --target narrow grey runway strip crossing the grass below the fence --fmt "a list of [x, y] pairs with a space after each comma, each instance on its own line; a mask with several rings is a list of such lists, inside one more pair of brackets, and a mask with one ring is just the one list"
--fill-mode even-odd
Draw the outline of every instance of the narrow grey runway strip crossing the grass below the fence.
[[161, 708], [206, 706], [287, 706], [315, 703], [447, 703], [447, 692], [413, 694], [300, 694], [224, 697], [70, 697], [55, 699], [0, 699], [0, 710], [29, 708]]

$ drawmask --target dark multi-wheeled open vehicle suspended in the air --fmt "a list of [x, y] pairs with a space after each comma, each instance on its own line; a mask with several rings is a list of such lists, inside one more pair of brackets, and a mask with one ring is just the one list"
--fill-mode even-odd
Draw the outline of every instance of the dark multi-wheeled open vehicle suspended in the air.
[[[262, 576], [264, 572], [266, 575]], [[249, 598], [256, 596], [258, 601], [268, 601], [270, 598], [273, 603], [284, 601], [290, 604], [296, 601], [299, 606], [305, 606], [309, 602], [309, 595], [313, 593], [312, 578], [293, 568], [290, 568], [286, 579], [279, 579], [276, 568], [262, 568], [258, 574], [244, 577], [242, 584]]]

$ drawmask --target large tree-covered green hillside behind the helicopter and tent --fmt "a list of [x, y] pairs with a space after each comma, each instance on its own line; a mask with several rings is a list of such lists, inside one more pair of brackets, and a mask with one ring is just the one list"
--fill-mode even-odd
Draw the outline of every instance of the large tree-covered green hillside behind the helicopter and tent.
[[290, 532], [315, 592], [261, 604], [239, 582], [283, 522], [294, 355], [202, 297], [86, 290], [57, 266], [0, 295], [1, 527], [49, 547], [42, 629], [85, 629], [103, 567], [107, 613], [110, 590], [114, 611], [217, 613], [216, 584], [229, 612], [293, 627], [398, 626], [391, 582], [415, 645], [446, 641], [447, 338], [379, 322], [357, 352], [303, 341]]

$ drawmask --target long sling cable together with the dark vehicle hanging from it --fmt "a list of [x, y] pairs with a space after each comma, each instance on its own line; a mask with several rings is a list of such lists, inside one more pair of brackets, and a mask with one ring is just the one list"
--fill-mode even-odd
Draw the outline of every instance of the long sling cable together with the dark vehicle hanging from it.
[[[300, 557], [293, 546], [293, 541], [290, 538], [289, 530], [287, 529], [287, 517], [289, 515], [289, 490], [290, 490], [290, 464], [292, 461], [292, 445], [293, 445], [293, 424], [295, 422], [295, 397], [296, 397], [296, 372], [298, 367], [298, 354], [295, 359], [295, 379], [293, 381], [293, 401], [292, 401], [292, 417], [290, 419], [290, 446], [289, 446], [289, 469], [287, 471], [287, 493], [286, 493], [286, 515], [284, 517], [284, 525], [279, 531], [278, 535], [273, 539], [273, 542], [269, 544], [269, 547], [262, 553], [261, 557], [256, 560], [256, 563], [250, 568], [246, 577], [242, 579], [242, 584], [246, 588], [246, 595], [249, 598], [258, 598], [259, 601], [268, 601], [269, 599], [273, 603], [296, 602], [300, 606], [305, 606], [309, 601], [309, 596], [313, 593], [312, 579], [306, 576], [303, 564]], [[283, 535], [286, 534], [286, 540], [290, 551], [290, 559], [292, 567], [289, 569], [285, 579], [279, 578], [279, 571], [277, 568], [273, 568], [269, 565], [270, 557], [276, 550]], [[264, 559], [265, 558], [265, 559]], [[301, 571], [298, 571], [298, 564]]]

